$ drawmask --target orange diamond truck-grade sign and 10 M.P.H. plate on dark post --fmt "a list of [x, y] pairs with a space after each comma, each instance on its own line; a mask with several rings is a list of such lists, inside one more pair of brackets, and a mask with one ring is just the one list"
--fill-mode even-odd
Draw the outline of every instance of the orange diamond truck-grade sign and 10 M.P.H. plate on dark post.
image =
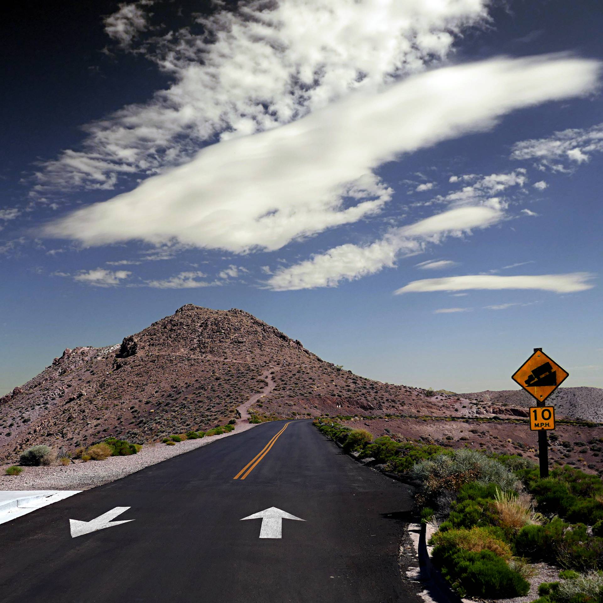
[[561, 368], [541, 347], [520, 366], [511, 379], [533, 396], [538, 406], [529, 409], [530, 429], [538, 432], [538, 461], [540, 477], [549, 476], [549, 443], [546, 432], [555, 429], [555, 409], [545, 406], [545, 400], [567, 379], [569, 373]]

